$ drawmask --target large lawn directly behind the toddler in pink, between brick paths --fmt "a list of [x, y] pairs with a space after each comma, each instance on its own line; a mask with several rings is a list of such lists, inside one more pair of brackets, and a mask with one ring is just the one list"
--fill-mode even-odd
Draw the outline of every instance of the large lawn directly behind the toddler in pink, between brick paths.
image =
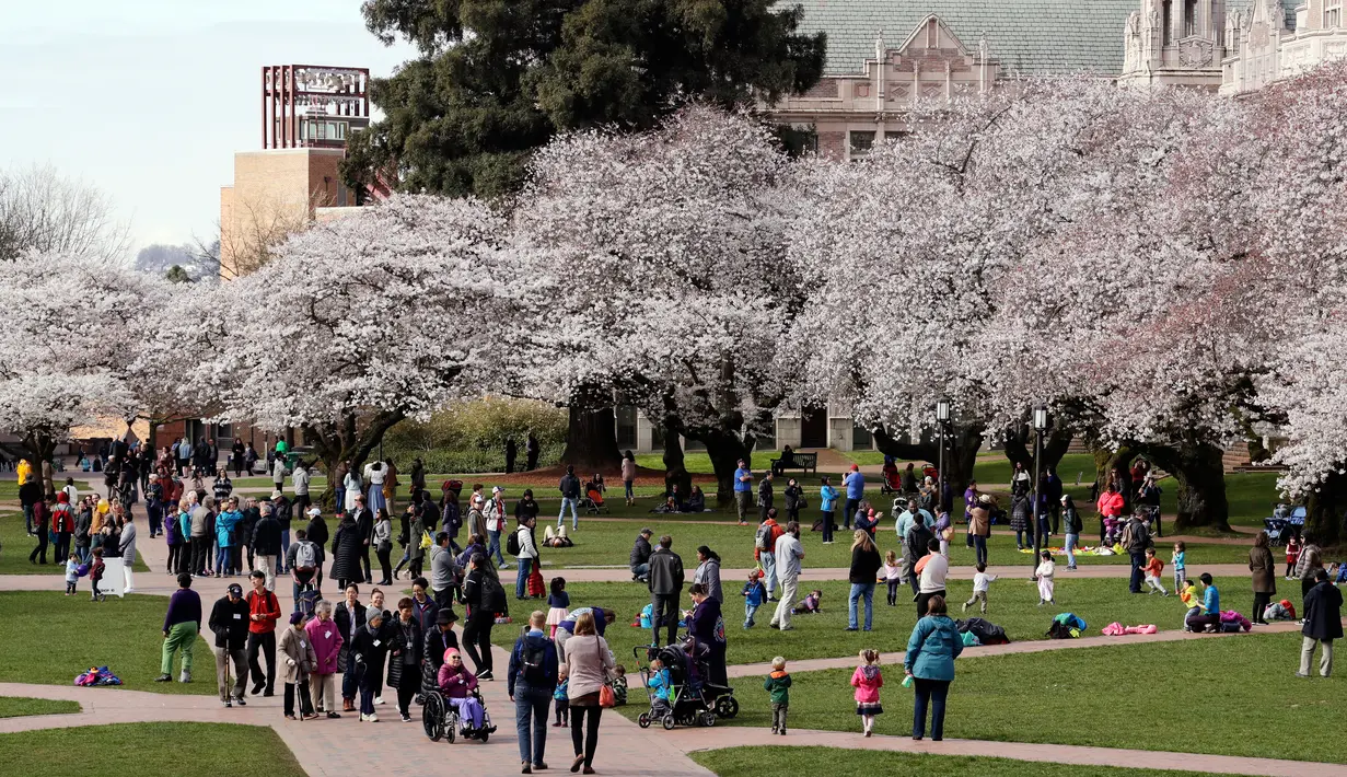
[[[1296, 677], [1299, 654], [1300, 634], [978, 658], [964, 653], [946, 735], [1344, 764], [1347, 750], [1332, 720], [1347, 698], [1347, 680]], [[793, 675], [792, 726], [859, 730], [851, 672]], [[901, 677], [900, 667], [885, 669], [877, 734], [911, 734], [912, 691]], [[737, 685], [741, 711], [725, 724], [770, 726], [760, 683]], [[624, 714], [638, 714], [643, 704], [633, 688]]]

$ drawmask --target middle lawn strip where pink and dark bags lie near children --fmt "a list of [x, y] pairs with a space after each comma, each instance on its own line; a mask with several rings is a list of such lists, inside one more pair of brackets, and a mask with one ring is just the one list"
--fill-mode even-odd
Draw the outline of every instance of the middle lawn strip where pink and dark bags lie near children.
[[[546, 575], [550, 578], [551, 575]], [[688, 571], [691, 578], [691, 570]], [[1246, 579], [1218, 578], [1216, 586], [1223, 593], [1223, 605], [1227, 609], [1246, 611], [1251, 603], [1253, 594]], [[792, 618], [795, 630], [777, 632], [766, 628], [772, 619], [772, 607], [764, 606], [757, 613], [757, 626], [745, 630], [744, 603], [740, 599], [740, 590], [744, 580], [723, 580], [722, 587], [726, 594], [725, 628], [729, 640], [729, 664], [750, 664], [769, 661], [773, 656], [785, 656], [787, 660], [797, 658], [835, 658], [839, 656], [854, 656], [862, 648], [876, 648], [881, 652], [898, 652], [907, 649], [908, 636], [916, 623], [916, 605], [912, 602], [912, 590], [898, 588], [898, 603], [888, 606], [885, 603], [888, 588], [877, 586], [874, 593], [874, 630], [846, 632], [847, 625], [847, 598], [851, 586], [846, 580], [830, 580], [823, 583], [801, 583], [804, 590], [819, 588], [823, 591], [823, 611], [814, 615], [796, 615]], [[603, 606], [617, 613], [617, 623], [607, 628], [605, 637], [613, 646], [620, 661], [629, 661], [632, 649], [637, 645], [648, 645], [651, 632], [648, 629], [634, 629], [630, 626], [641, 609], [649, 603], [649, 593], [640, 583], [572, 583], [566, 587], [571, 598], [572, 607]], [[973, 594], [971, 580], [951, 580], [950, 602], [955, 618], [964, 617], [960, 613], [963, 602]], [[1045, 632], [1057, 613], [1076, 613], [1086, 619], [1090, 629], [1088, 636], [1098, 636], [1099, 629], [1113, 621], [1123, 625], [1154, 623], [1161, 630], [1183, 628], [1183, 617], [1187, 609], [1176, 597], [1164, 598], [1160, 594], [1129, 594], [1125, 579], [1099, 578], [1061, 578], [1056, 590], [1057, 606], [1039, 607], [1037, 587], [1029, 583], [1028, 576], [1022, 579], [1002, 578], [991, 583], [990, 607], [986, 619], [1005, 628], [1012, 641], [1022, 642], [1045, 638]], [[1299, 602], [1299, 595], [1293, 598]], [[692, 602], [684, 597], [683, 607], [690, 609]], [[521, 623], [528, 611], [540, 607], [541, 602], [516, 602], [511, 599], [511, 614]], [[967, 617], [979, 615], [970, 610]], [[863, 619], [863, 602], [858, 619]], [[863, 622], [861, 623], [863, 625]], [[498, 626], [492, 633], [496, 644], [509, 646], [519, 636], [519, 628]]]

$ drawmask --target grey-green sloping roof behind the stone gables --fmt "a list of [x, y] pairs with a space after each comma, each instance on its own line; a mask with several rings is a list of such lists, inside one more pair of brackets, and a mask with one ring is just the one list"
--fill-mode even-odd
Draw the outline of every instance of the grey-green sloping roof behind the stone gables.
[[826, 75], [859, 73], [884, 31], [896, 48], [935, 13], [970, 50], [983, 32], [1002, 70], [1025, 75], [1122, 71], [1122, 34], [1137, 0], [783, 0], [804, 8], [801, 32], [828, 35]]

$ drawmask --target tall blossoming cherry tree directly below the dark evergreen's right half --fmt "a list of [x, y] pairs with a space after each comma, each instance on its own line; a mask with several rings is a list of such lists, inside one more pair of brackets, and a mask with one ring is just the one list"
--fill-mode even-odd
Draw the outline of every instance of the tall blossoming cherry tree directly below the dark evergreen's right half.
[[517, 210], [559, 291], [540, 385], [617, 392], [703, 442], [721, 501], [795, 380], [785, 335], [807, 290], [785, 255], [787, 174], [765, 127], [694, 106], [655, 132], [554, 141]]

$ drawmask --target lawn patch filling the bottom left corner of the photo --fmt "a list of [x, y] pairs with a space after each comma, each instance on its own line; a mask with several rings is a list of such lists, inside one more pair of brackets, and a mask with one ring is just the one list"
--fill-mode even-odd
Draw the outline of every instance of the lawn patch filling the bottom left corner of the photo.
[[237, 723], [113, 723], [0, 734], [7, 774], [306, 777], [280, 737]]

